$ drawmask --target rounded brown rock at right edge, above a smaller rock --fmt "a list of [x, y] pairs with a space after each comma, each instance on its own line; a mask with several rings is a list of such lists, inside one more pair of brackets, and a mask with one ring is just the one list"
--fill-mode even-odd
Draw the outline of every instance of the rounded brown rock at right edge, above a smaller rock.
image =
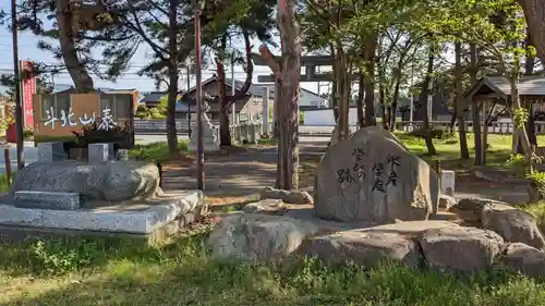
[[483, 229], [493, 230], [507, 242], [521, 242], [537, 249], [545, 248], [537, 219], [526, 211], [502, 204], [489, 204], [483, 207]]

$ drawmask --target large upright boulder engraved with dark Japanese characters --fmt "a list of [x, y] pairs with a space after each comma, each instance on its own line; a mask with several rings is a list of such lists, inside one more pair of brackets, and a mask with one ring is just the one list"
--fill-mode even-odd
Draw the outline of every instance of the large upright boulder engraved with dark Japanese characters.
[[437, 173], [376, 127], [329, 147], [315, 176], [316, 215], [344, 222], [425, 220], [438, 197]]

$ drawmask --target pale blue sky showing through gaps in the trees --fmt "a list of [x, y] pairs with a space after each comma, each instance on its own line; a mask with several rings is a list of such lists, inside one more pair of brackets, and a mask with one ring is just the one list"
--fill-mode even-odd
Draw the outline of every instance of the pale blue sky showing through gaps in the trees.
[[[0, 1], [0, 10], [10, 11], [9, 1], [2, 0]], [[47, 51], [39, 50], [37, 48], [38, 37], [34, 36], [31, 33], [20, 32], [19, 33], [19, 58], [20, 60], [29, 60], [37, 62], [45, 62], [50, 64], [59, 63], [51, 53]], [[255, 47], [258, 47], [258, 41], [253, 44]], [[257, 51], [257, 50], [256, 50]], [[272, 50], [275, 52], [275, 50]], [[121, 77], [117, 79], [117, 82], [106, 82], [101, 81], [98, 77], [94, 76], [95, 86], [96, 87], [109, 87], [109, 88], [136, 88], [138, 91], [152, 91], [155, 90], [154, 81], [147, 78], [145, 76], [136, 75], [136, 71], [143, 65], [147, 63], [147, 53], [149, 53], [149, 49], [143, 45], [137, 53], [134, 56], [131, 61], [131, 69]], [[0, 27], [0, 73], [5, 73], [7, 71], [13, 70], [13, 54], [12, 54], [12, 36], [11, 33], [5, 27]], [[203, 79], [211, 76], [214, 71], [211, 68], [208, 68], [203, 71]], [[228, 77], [231, 75], [231, 68], [228, 68], [227, 71]], [[264, 66], [255, 66], [254, 68], [254, 83], [257, 83], [257, 74], [270, 74], [270, 71]], [[234, 77], [237, 79], [243, 81], [245, 78], [245, 73], [242, 70], [242, 66], [234, 68]], [[191, 77], [191, 84], [194, 85], [194, 76]], [[61, 73], [55, 76], [56, 84], [65, 84], [72, 85], [72, 79], [70, 78], [68, 73]], [[184, 88], [186, 85], [186, 76], [182, 75], [180, 79], [181, 88]], [[316, 91], [317, 84], [315, 83], [302, 83], [302, 86], [306, 89]], [[326, 90], [326, 87], [320, 87], [322, 91]]]

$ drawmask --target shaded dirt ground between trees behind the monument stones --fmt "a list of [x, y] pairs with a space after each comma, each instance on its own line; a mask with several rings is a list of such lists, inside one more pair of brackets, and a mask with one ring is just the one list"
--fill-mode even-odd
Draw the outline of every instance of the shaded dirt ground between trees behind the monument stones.
[[[301, 144], [301, 188], [312, 191], [314, 169], [327, 143]], [[274, 186], [276, 180], [277, 148], [252, 148], [231, 156], [214, 157], [205, 161], [205, 195], [221, 197], [220, 201], [237, 201], [240, 197]], [[196, 188], [196, 168], [169, 164], [164, 171], [166, 191]], [[456, 176], [457, 198], [486, 197], [508, 203], [522, 203], [528, 198], [526, 188], [518, 184], [492, 183], [474, 178], [468, 172]], [[216, 199], [217, 200], [217, 199]]]

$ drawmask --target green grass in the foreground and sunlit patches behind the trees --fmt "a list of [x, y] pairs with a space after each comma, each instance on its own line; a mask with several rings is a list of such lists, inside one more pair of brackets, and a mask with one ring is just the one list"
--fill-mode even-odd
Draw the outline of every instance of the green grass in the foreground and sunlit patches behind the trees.
[[[399, 137], [425, 155], [423, 140]], [[459, 160], [458, 144], [435, 144], [445, 162], [468, 162]], [[510, 138], [491, 135], [491, 144], [494, 162], [504, 164]], [[166, 144], [153, 144], [131, 155], [159, 161], [167, 151]], [[544, 204], [524, 209], [545, 220]], [[455, 277], [386, 264], [374, 270], [350, 264], [331, 269], [305, 258], [268, 266], [219, 261], [206, 250], [207, 231], [156, 247], [98, 237], [0, 243], [0, 306], [545, 305], [544, 282], [499, 269]]]

